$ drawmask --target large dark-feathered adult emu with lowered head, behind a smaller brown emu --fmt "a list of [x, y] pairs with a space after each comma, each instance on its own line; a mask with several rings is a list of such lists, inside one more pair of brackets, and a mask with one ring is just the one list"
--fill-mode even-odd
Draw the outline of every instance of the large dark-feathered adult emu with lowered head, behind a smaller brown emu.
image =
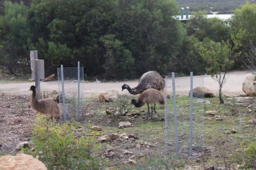
[[[144, 73], [140, 79], [137, 87], [130, 88], [127, 84], [122, 86], [122, 91], [127, 89], [130, 94], [138, 95], [147, 89], [156, 89], [159, 91], [163, 91], [165, 87], [165, 81], [162, 76], [156, 71], [148, 71]], [[154, 112], [155, 112], [156, 104], [154, 104]]]

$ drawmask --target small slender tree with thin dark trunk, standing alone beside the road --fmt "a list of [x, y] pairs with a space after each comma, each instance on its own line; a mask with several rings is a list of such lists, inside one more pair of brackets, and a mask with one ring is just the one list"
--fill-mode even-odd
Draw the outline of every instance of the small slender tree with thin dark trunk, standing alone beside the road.
[[219, 99], [220, 104], [224, 103], [222, 99], [222, 87], [226, 82], [227, 71], [235, 63], [235, 58], [239, 57], [242, 52], [236, 52], [241, 47], [241, 42], [236, 40], [233, 35], [227, 41], [215, 43], [209, 40], [211, 44], [206, 50], [200, 52], [203, 60], [206, 61], [206, 72], [211, 74], [211, 77], [219, 83]]

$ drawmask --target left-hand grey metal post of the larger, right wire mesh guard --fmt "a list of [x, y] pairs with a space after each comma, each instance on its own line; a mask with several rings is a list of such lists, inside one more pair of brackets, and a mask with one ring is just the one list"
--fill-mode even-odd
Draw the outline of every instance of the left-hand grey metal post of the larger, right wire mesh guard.
[[175, 150], [179, 152], [179, 140], [178, 140], [178, 118], [176, 108], [176, 94], [175, 94], [175, 74], [172, 72], [172, 94], [173, 94], [173, 112], [174, 112], [174, 131], [175, 131]]

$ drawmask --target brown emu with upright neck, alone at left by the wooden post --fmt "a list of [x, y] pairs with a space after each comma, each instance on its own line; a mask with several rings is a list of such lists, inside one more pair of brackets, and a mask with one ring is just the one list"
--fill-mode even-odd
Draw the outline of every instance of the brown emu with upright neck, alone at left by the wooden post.
[[43, 114], [49, 114], [52, 118], [60, 117], [60, 107], [53, 99], [36, 99], [36, 87], [31, 86], [30, 89], [32, 91], [32, 96], [30, 99], [30, 106], [35, 109], [37, 112], [41, 112]]

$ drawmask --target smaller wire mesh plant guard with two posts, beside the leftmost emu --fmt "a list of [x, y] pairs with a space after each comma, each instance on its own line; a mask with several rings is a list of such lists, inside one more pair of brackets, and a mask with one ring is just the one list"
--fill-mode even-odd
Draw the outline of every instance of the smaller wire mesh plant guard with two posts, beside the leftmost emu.
[[58, 71], [59, 104], [62, 110], [60, 120], [81, 120], [85, 113], [84, 106], [84, 68], [63, 67]]

